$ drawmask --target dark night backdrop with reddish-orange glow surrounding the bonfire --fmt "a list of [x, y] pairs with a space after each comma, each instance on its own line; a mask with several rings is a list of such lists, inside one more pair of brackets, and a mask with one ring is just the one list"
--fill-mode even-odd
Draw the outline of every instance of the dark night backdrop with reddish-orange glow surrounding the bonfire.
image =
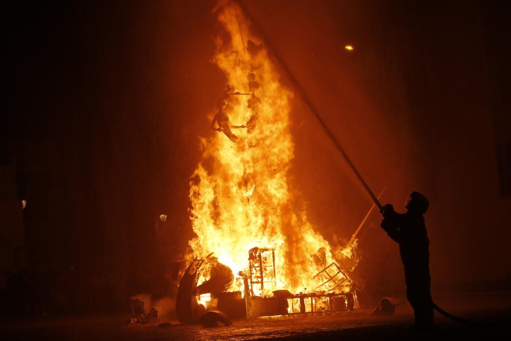
[[[433, 287], [509, 283], [511, 205], [499, 195], [496, 154], [511, 143], [508, 6], [243, 4], [369, 185], [387, 186], [383, 201], [400, 207], [412, 190], [430, 198]], [[10, 3], [5, 126], [18, 195], [29, 202], [28, 262], [128, 277], [162, 267], [152, 234], [160, 213], [174, 242], [164, 258], [184, 251], [198, 136], [212, 133], [206, 115], [224, 86], [210, 62], [214, 6]], [[348, 237], [371, 203], [305, 103], [294, 109], [293, 185], [327, 239]], [[383, 258], [389, 271], [399, 269], [396, 245], [376, 215], [371, 223], [360, 241], [368, 255], [361, 276]], [[390, 273], [401, 285], [400, 272]]]

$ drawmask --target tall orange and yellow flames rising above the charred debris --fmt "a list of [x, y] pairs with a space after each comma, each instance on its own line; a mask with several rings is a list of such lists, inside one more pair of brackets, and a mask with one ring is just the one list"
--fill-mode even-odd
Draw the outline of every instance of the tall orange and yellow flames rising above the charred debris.
[[314, 275], [333, 257], [290, 188], [293, 92], [280, 82], [264, 42], [235, 6], [217, 9], [225, 34], [216, 40], [213, 62], [228, 83], [218, 110], [239, 128], [201, 138], [203, 159], [190, 184], [197, 234], [190, 245], [194, 257], [214, 253], [233, 270], [230, 290], [243, 291], [240, 273], [249, 271], [249, 250], [260, 247], [274, 250], [276, 280], [256, 294], [313, 291], [322, 283]]

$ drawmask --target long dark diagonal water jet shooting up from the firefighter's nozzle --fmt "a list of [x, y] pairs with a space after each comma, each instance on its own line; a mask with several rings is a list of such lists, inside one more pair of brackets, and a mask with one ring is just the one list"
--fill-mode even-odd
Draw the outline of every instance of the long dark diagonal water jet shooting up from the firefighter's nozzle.
[[329, 129], [327, 124], [321, 118], [321, 116], [319, 115], [319, 111], [317, 110], [316, 106], [314, 105], [314, 103], [310, 99], [309, 95], [307, 94], [307, 92], [305, 91], [303, 86], [301, 86], [301, 84], [298, 82], [298, 80], [293, 76], [293, 74], [289, 70], [289, 67], [286, 64], [286, 62], [281, 58], [280, 55], [278, 55], [277, 51], [273, 48], [273, 46], [270, 43], [270, 40], [266, 37], [266, 35], [264, 34], [264, 31], [261, 29], [261, 27], [257, 24], [257, 22], [255, 22], [253, 20], [252, 17], [250, 17], [249, 12], [248, 12], [246, 6], [243, 4], [243, 2], [239, 1], [238, 3], [240, 5], [240, 8], [243, 10], [243, 13], [247, 16], [247, 18], [252, 23], [252, 26], [255, 28], [255, 30], [257, 32], [259, 32], [259, 34], [261, 35], [261, 37], [265, 41], [266, 48], [268, 49], [268, 51], [277, 59], [278, 63], [280, 63], [282, 69], [286, 72], [289, 80], [293, 83], [294, 87], [298, 91], [298, 94], [300, 95], [301, 99], [307, 104], [309, 109], [311, 109], [312, 113], [314, 114], [316, 119], [319, 121], [319, 124], [323, 128], [324, 132], [327, 134], [327, 136], [330, 138], [330, 140], [332, 140], [332, 142], [334, 143], [334, 146], [342, 154], [342, 156], [344, 157], [344, 160], [346, 160], [347, 164], [351, 167], [351, 169], [353, 170], [355, 175], [357, 175], [358, 179], [360, 180], [360, 182], [364, 186], [365, 190], [367, 191], [367, 193], [369, 194], [369, 196], [371, 197], [371, 199], [373, 200], [375, 205], [381, 211], [383, 209], [382, 204], [380, 203], [378, 198], [375, 196], [373, 191], [371, 191], [371, 189], [369, 188], [369, 186], [365, 182], [365, 180], [362, 177], [362, 175], [360, 175], [359, 171], [357, 170], [357, 167], [355, 167], [355, 165], [351, 161], [350, 157], [346, 154], [346, 152], [344, 151], [344, 148], [342, 148], [341, 143], [337, 140], [337, 138], [335, 137], [334, 133]]

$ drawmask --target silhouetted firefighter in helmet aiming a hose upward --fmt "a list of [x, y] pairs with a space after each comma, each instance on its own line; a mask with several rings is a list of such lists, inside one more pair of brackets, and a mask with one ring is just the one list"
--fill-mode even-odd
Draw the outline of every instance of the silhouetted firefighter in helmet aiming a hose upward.
[[428, 199], [412, 192], [405, 202], [407, 212], [394, 211], [391, 204], [383, 207], [381, 227], [393, 241], [399, 243], [405, 268], [406, 298], [415, 314], [417, 328], [433, 326], [433, 301], [429, 275], [429, 239], [423, 215], [428, 211]]

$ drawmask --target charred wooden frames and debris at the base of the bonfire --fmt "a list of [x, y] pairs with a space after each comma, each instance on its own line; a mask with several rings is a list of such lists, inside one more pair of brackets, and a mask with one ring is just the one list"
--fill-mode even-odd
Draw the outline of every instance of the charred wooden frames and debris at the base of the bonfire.
[[[194, 259], [181, 278], [176, 301], [177, 318], [182, 323], [196, 323], [207, 311], [225, 313], [231, 318], [322, 314], [351, 311], [359, 308], [357, 286], [337, 263], [318, 272], [321, 281], [311, 292], [291, 293], [274, 290], [272, 295], [256, 295], [264, 286], [276, 287], [275, 252], [254, 247], [248, 252], [248, 274], [243, 278], [242, 291], [227, 291], [234, 274], [212, 254]], [[208, 278], [197, 286], [200, 277]], [[349, 287], [349, 290], [345, 290]]]

